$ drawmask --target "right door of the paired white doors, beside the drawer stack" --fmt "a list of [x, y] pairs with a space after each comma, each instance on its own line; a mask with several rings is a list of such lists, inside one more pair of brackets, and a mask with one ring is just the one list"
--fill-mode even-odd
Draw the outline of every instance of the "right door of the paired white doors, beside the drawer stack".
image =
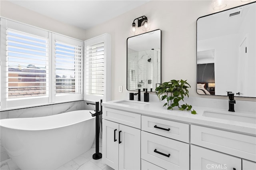
[[119, 125], [119, 170], [140, 169], [140, 129]]

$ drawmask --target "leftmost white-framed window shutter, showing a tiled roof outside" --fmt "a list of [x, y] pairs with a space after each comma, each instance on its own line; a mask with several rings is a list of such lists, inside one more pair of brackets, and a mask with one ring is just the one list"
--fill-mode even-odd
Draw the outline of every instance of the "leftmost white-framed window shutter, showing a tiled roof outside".
[[1, 18], [1, 109], [49, 102], [51, 33]]

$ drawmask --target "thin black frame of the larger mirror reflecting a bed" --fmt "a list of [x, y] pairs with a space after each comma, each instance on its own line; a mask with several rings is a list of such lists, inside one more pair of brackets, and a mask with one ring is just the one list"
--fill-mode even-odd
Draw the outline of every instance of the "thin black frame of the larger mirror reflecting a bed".
[[[243, 4], [243, 5], [240, 5], [240, 6], [235, 6], [235, 7], [233, 7], [233, 8], [229, 8], [229, 9], [226, 9], [226, 10], [222, 10], [222, 11], [219, 11], [219, 12], [215, 12], [215, 13], [212, 13], [212, 14], [207, 14], [207, 15], [205, 15], [205, 16], [201, 16], [201, 17], [199, 17], [197, 20], [196, 20], [196, 87], [197, 87], [197, 83], [198, 83], [198, 77], [197, 77], [197, 75], [198, 75], [198, 69], [197, 69], [197, 59], [198, 59], [198, 51], [197, 51], [197, 49], [198, 49], [198, 20], [200, 19], [200, 18], [204, 18], [204, 17], [206, 17], [206, 16], [211, 16], [211, 15], [214, 15], [214, 14], [218, 14], [218, 13], [220, 13], [220, 12], [225, 12], [225, 11], [228, 11], [228, 10], [232, 10], [232, 9], [235, 9], [235, 8], [239, 8], [239, 7], [241, 7], [241, 6], [246, 6], [246, 5], [249, 5], [249, 4], [253, 4], [253, 3], [256, 3], [255, 1], [254, 2], [250, 2], [250, 3], [247, 3], [247, 4]], [[215, 72], [215, 71], [214, 71]], [[196, 94], [198, 94], [198, 95], [204, 95], [204, 94], [199, 94], [199, 93], [197, 93], [197, 88], [196, 88]], [[205, 96], [228, 96], [228, 95], [205, 95]], [[256, 97], [248, 97], [248, 96], [235, 96], [235, 97], [246, 97], [246, 98], [256, 98]]]

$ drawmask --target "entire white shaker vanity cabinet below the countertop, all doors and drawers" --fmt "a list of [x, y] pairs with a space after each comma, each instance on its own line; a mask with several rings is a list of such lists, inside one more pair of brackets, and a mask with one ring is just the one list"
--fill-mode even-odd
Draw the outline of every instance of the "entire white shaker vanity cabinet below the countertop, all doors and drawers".
[[103, 110], [102, 162], [115, 170], [256, 170], [255, 136], [128, 110]]

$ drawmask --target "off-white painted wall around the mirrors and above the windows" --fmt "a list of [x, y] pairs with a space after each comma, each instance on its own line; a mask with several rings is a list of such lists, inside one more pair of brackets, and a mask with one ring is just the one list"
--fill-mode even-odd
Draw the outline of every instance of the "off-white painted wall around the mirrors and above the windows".
[[[162, 82], [171, 79], [187, 79], [191, 85], [190, 96], [226, 99], [226, 97], [204, 96], [196, 93], [196, 20], [200, 16], [216, 12], [212, 9], [210, 0], [152, 0], [88, 30], [56, 22], [10, 2], [0, 1], [0, 3], [1, 16], [80, 40], [109, 33], [112, 36], [112, 100], [124, 99], [128, 92], [125, 88], [126, 40], [131, 36], [130, 27], [133, 20], [145, 15], [151, 22], [150, 31], [162, 30]], [[244, 3], [240, 0], [229, 0], [225, 9], [242, 4]], [[123, 93], [118, 92], [119, 85], [124, 87]], [[239, 98], [239, 100], [254, 99]]]

